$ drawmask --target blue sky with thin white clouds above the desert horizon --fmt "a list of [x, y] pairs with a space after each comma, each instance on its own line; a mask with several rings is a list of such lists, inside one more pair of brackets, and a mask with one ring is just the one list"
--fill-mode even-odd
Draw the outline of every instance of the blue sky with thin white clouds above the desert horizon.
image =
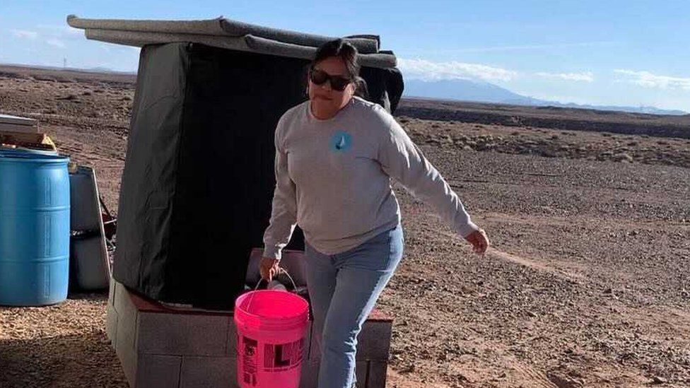
[[136, 71], [139, 49], [66, 16], [205, 19], [380, 35], [406, 79], [469, 78], [533, 98], [690, 112], [690, 1], [1, 0], [0, 63]]

